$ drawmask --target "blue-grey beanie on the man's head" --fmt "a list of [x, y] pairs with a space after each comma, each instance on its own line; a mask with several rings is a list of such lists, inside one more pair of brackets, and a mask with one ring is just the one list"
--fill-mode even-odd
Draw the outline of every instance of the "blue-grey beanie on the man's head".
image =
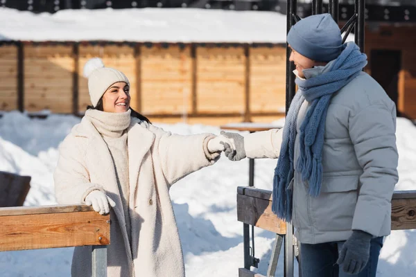
[[298, 21], [288, 33], [288, 44], [316, 62], [335, 60], [342, 51], [341, 31], [331, 15], [311, 15]]

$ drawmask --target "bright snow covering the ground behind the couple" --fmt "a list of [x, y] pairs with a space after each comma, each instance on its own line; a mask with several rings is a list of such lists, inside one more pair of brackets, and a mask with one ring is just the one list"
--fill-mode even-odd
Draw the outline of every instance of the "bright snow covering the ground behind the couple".
[[[31, 175], [26, 206], [55, 204], [53, 169], [58, 145], [80, 118], [51, 114], [30, 119], [12, 111], [0, 118], [0, 170]], [[280, 124], [280, 123], [279, 123]], [[218, 127], [186, 124], [155, 124], [177, 134], [213, 132]], [[397, 120], [400, 181], [397, 190], [415, 190], [416, 127], [409, 120]], [[258, 159], [255, 186], [271, 189], [276, 161]], [[179, 181], [171, 190], [180, 230], [187, 276], [238, 276], [243, 267], [243, 230], [236, 220], [236, 187], [248, 184], [248, 160], [218, 163]], [[258, 271], [266, 275], [274, 234], [255, 229]], [[377, 276], [415, 276], [416, 231], [392, 231], [385, 240]], [[0, 276], [69, 276], [72, 248], [0, 253]], [[283, 255], [283, 253], [281, 253]], [[280, 256], [276, 276], [283, 276]], [[295, 274], [297, 269], [295, 265]]]

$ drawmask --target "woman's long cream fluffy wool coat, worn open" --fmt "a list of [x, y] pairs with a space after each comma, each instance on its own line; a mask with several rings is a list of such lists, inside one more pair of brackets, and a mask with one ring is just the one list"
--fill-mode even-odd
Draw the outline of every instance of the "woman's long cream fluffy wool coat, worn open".
[[[169, 188], [191, 172], [215, 163], [209, 155], [211, 134], [180, 136], [132, 118], [128, 127], [130, 179], [129, 245], [123, 205], [110, 152], [89, 118], [60, 145], [54, 172], [60, 204], [83, 204], [92, 190], [102, 190], [116, 202], [110, 212], [107, 274], [112, 276], [182, 277], [184, 260]], [[71, 275], [91, 276], [91, 247], [76, 247]]]

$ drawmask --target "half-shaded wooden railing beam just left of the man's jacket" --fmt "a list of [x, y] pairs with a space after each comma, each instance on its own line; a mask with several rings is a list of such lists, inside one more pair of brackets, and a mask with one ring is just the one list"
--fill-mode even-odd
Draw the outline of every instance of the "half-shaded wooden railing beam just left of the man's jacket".
[[237, 220], [280, 235], [286, 233], [286, 223], [277, 218], [272, 202], [266, 199], [237, 195]]

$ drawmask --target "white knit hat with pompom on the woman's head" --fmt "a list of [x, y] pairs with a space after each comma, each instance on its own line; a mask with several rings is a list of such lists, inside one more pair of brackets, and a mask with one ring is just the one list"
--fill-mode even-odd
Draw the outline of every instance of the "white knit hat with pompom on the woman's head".
[[94, 107], [112, 84], [125, 82], [130, 86], [123, 72], [105, 67], [99, 57], [93, 57], [85, 63], [83, 75], [88, 78], [89, 98]]

